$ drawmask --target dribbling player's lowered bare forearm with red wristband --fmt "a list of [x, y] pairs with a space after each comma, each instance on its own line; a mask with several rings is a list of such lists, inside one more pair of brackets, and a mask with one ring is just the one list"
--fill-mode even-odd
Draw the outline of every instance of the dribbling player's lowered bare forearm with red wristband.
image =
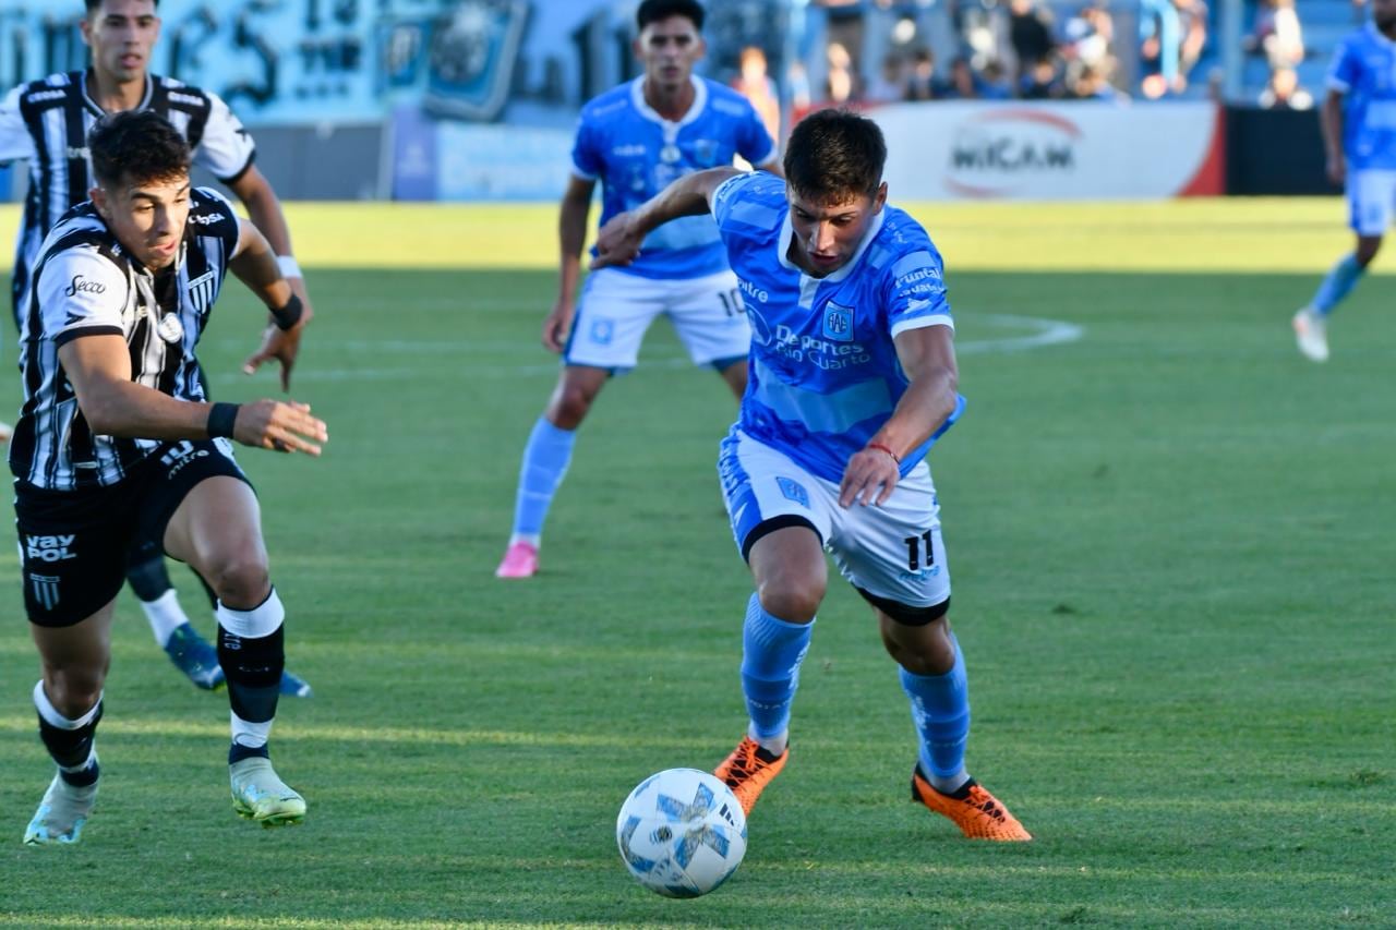
[[839, 504], [881, 504], [896, 487], [905, 455], [955, 413], [959, 369], [955, 363], [953, 330], [930, 325], [906, 330], [893, 339], [896, 357], [910, 378], [892, 416], [868, 444], [849, 459], [839, 485]]

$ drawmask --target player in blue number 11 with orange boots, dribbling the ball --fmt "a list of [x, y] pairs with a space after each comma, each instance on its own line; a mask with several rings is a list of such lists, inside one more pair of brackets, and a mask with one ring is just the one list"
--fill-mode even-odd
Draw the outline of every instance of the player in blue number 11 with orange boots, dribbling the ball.
[[963, 409], [955, 324], [940, 253], [886, 205], [885, 161], [875, 123], [814, 113], [790, 135], [787, 180], [726, 168], [684, 177], [613, 218], [593, 264], [624, 264], [651, 230], [711, 211], [751, 320], [751, 384], [718, 465], [757, 588], [743, 628], [750, 725], [715, 774], [750, 813], [789, 760], [828, 549], [900, 666], [920, 739], [913, 800], [966, 836], [1030, 839], [965, 769], [969, 691], [924, 461]]

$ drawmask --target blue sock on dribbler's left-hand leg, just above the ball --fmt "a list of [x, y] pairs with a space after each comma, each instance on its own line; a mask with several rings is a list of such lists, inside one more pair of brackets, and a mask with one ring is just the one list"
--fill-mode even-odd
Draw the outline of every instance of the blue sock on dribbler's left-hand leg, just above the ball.
[[766, 613], [751, 595], [741, 627], [741, 693], [758, 741], [790, 728], [790, 702], [800, 687], [800, 663], [812, 627], [814, 620], [789, 623]]

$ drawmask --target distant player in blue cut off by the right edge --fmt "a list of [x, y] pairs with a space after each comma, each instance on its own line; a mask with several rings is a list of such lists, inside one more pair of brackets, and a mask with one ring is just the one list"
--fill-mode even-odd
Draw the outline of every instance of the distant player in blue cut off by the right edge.
[[1294, 314], [1300, 352], [1328, 360], [1328, 317], [1382, 247], [1396, 208], [1396, 0], [1372, 0], [1372, 21], [1337, 46], [1321, 126], [1328, 176], [1347, 187], [1357, 247], [1343, 256], [1308, 306]]

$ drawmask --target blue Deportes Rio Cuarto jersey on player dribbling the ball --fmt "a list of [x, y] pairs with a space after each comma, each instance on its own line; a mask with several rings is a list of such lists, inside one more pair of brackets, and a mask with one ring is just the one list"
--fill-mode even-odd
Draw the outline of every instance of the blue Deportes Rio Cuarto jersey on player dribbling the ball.
[[[885, 207], [846, 265], [811, 278], [787, 258], [790, 207], [785, 182], [772, 175], [723, 183], [713, 215], [751, 320], [737, 426], [838, 482], [906, 392], [892, 339], [917, 327], [953, 327], [941, 256], [920, 223]], [[941, 433], [963, 406], [958, 398]], [[902, 458], [903, 475], [934, 440]]]

